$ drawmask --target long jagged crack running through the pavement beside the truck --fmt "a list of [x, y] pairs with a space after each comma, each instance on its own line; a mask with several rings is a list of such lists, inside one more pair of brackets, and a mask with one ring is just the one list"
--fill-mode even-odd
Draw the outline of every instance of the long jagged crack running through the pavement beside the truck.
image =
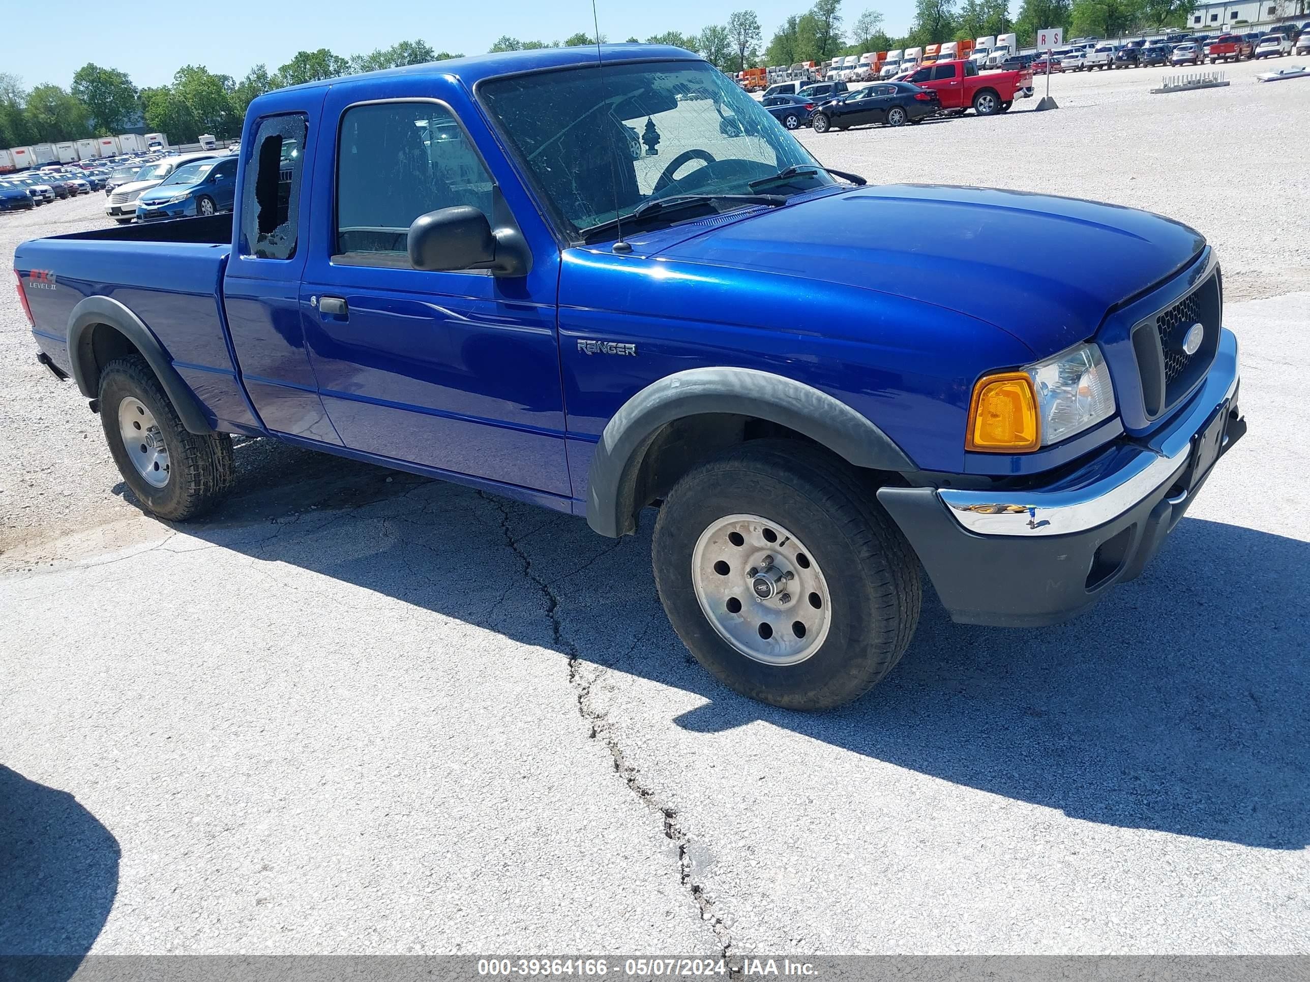
[[[692, 896], [692, 900], [696, 902], [696, 906], [701, 913], [701, 920], [710, 926], [710, 930], [714, 932], [715, 941], [718, 943], [719, 952], [723, 956], [724, 962], [728, 962], [732, 957], [732, 934], [728, 930], [728, 926], [723, 922], [723, 918], [718, 914], [714, 901], [706, 893], [705, 884], [700, 882], [692, 873], [690, 835], [688, 835], [686, 830], [679, 825], [677, 810], [660, 801], [655, 791], [642, 783], [637, 767], [627, 763], [624, 748], [620, 746], [618, 740], [610, 733], [605, 714], [592, 703], [592, 686], [608, 674], [609, 669], [604, 665], [596, 665], [596, 672], [590, 676], [586, 674], [584, 664], [587, 663], [583, 661], [582, 655], [578, 652], [578, 647], [566, 636], [563, 625], [559, 619], [559, 597], [555, 596], [550, 584], [534, 572], [532, 558], [523, 551], [520, 539], [515, 538], [511, 528], [512, 518], [510, 516], [508, 505], [499, 498], [489, 495], [483, 491], [478, 491], [478, 496], [499, 511], [500, 534], [504, 536], [506, 545], [519, 558], [519, 562], [523, 563], [524, 577], [541, 592], [541, 596], [546, 601], [546, 618], [550, 621], [552, 640], [555, 649], [563, 652], [569, 659], [569, 683], [578, 693], [578, 715], [580, 715], [590, 725], [590, 738], [604, 740], [605, 746], [609, 749], [609, 755], [613, 758], [614, 774], [617, 774], [624, 783], [627, 784], [629, 790], [637, 795], [638, 799], [641, 799], [642, 804], [660, 814], [663, 820], [664, 838], [677, 846], [679, 882], [681, 882], [681, 885]], [[604, 550], [600, 555], [612, 553], [621, 545], [622, 539], [616, 539], [614, 545]], [[587, 566], [600, 559], [600, 555], [588, 562]], [[641, 639], [633, 642], [633, 648], [637, 647], [639, 640]], [[736, 966], [732, 968], [732, 974], [738, 974]]]

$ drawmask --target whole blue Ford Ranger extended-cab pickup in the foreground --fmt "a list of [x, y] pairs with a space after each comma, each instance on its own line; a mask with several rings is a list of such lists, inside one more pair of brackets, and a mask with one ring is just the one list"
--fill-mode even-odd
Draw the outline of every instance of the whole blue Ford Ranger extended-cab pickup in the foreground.
[[710, 672], [794, 708], [901, 657], [922, 581], [1049, 625], [1137, 576], [1244, 432], [1205, 240], [872, 186], [645, 45], [255, 100], [233, 215], [22, 244], [38, 357], [166, 520], [275, 437], [634, 532]]

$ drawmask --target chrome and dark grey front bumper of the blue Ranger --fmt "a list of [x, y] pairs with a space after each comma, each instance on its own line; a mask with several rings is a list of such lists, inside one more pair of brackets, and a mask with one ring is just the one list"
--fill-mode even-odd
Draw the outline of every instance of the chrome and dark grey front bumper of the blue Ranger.
[[1117, 441], [1078, 470], [1019, 491], [884, 487], [951, 618], [1034, 627], [1094, 606], [1141, 573], [1214, 464], [1246, 432], [1238, 346], [1220, 335], [1200, 389], [1146, 443]]

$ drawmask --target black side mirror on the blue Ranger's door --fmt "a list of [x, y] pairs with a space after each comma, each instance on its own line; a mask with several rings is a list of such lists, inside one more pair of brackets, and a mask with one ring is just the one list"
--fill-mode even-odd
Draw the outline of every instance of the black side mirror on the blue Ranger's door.
[[486, 215], [472, 204], [419, 215], [405, 245], [415, 270], [491, 270], [496, 276], [525, 276], [532, 268], [523, 234], [514, 228], [493, 232]]

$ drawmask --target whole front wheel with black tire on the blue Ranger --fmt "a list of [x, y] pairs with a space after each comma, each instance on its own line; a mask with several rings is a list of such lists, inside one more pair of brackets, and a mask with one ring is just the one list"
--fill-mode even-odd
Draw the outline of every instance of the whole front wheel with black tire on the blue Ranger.
[[[734, 526], [752, 537], [741, 553], [726, 532]], [[722, 560], [707, 566], [714, 550], [739, 556], [739, 568]], [[793, 573], [776, 580], [781, 585], [769, 587], [758, 567], [751, 577], [747, 563], [764, 562], [757, 553], [766, 550], [777, 567], [794, 567], [778, 573]], [[800, 550], [814, 550], [812, 559]], [[734, 691], [772, 706], [824, 710], [859, 698], [896, 665], [918, 622], [918, 560], [872, 488], [842, 461], [793, 440], [751, 441], [685, 474], [660, 508], [651, 560], [664, 610], [696, 660]], [[703, 571], [700, 579], [693, 562]], [[722, 575], [720, 567], [730, 572], [715, 585], [710, 577]], [[758, 600], [761, 580], [778, 592]], [[795, 584], [798, 596], [787, 600], [786, 584]], [[702, 604], [711, 588], [719, 593]], [[731, 613], [734, 601], [740, 617]], [[717, 602], [722, 630], [740, 631], [738, 643], [710, 622], [706, 610]], [[790, 618], [796, 619], [789, 625]], [[765, 635], [770, 622], [777, 634]], [[781, 653], [760, 657], [770, 642]], [[756, 656], [741, 644], [758, 646]], [[798, 655], [787, 646], [810, 647]]]

